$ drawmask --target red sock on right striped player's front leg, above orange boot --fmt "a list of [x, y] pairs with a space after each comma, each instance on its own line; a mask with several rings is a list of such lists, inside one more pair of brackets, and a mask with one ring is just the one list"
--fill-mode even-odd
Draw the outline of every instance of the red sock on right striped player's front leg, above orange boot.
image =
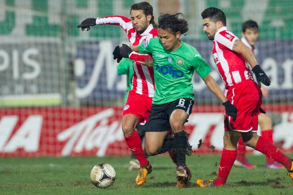
[[236, 159], [237, 150], [226, 150], [223, 148], [219, 164], [219, 174], [215, 180], [215, 186], [221, 186], [226, 183], [227, 177]]

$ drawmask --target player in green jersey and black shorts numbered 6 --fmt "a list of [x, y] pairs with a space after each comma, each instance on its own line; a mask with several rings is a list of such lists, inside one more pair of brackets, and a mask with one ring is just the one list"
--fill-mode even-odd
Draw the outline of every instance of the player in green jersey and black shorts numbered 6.
[[[183, 14], [162, 14], [159, 16], [159, 38], [143, 41], [131, 49], [123, 44], [122, 57], [129, 57], [132, 51], [149, 53], [153, 58], [155, 94], [150, 116], [147, 121], [145, 149], [149, 155], [157, 155], [172, 150], [176, 157], [177, 187], [185, 187], [191, 178], [185, 164], [187, 136], [183, 125], [191, 113], [193, 105], [194, 70], [204, 80], [207, 87], [223, 103], [226, 113], [236, 119], [237, 109], [223, 95], [220, 87], [209, 74], [211, 68], [191, 45], [180, 40], [188, 31]], [[168, 130], [174, 138], [166, 138]]]

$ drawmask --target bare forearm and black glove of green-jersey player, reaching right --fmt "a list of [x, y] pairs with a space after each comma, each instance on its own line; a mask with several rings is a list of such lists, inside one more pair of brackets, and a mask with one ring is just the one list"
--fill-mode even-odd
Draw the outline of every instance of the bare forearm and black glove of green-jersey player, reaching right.
[[226, 114], [233, 117], [233, 121], [235, 121], [237, 117], [237, 108], [231, 104], [229, 100], [227, 100], [215, 79], [208, 74], [205, 78], [203, 78], [203, 81], [210, 91], [222, 101], [222, 104], [225, 106]]

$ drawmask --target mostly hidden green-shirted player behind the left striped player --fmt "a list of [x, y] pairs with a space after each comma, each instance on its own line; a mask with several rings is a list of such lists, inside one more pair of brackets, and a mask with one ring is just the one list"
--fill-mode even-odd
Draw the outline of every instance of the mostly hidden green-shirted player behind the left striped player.
[[[117, 66], [117, 74], [118, 75], [122, 75], [122, 74], [127, 75], [127, 88], [126, 88], [126, 94], [125, 94], [124, 100], [123, 100], [123, 105], [126, 104], [128, 92], [132, 88], [132, 79], [133, 79], [133, 65], [132, 64], [133, 64], [133, 62], [130, 59], [123, 58]], [[143, 141], [143, 139], [145, 137], [145, 133], [146, 133], [143, 129], [146, 122], [147, 121], [145, 120], [142, 123], [138, 124], [136, 127], [136, 130], [138, 131], [138, 134], [140, 135], [142, 141]], [[145, 156], [146, 156], [146, 158], [148, 157], [146, 152], [145, 152]], [[139, 168], [140, 168], [140, 162], [137, 160], [135, 155], [133, 153], [131, 153], [128, 170], [137, 170]]]

